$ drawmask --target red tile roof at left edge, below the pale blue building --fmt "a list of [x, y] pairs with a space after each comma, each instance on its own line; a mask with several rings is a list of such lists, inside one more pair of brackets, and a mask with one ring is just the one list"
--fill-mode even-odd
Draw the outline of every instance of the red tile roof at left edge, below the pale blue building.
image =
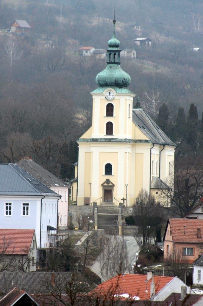
[[6, 255], [27, 255], [34, 230], [0, 229], [0, 252]]

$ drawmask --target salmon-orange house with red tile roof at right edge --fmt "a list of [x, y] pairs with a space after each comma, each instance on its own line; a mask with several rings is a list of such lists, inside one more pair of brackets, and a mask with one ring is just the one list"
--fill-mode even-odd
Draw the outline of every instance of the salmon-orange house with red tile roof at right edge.
[[163, 240], [164, 260], [170, 260], [175, 252], [178, 260], [193, 263], [201, 255], [203, 220], [169, 218]]

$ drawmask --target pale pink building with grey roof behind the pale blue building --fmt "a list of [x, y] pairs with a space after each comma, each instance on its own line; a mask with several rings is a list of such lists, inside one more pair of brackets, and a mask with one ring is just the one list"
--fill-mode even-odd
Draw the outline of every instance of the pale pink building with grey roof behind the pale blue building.
[[37, 162], [34, 162], [31, 156], [21, 156], [17, 165], [61, 196], [58, 207], [59, 227], [60, 229], [68, 228], [69, 186], [54, 174], [37, 164]]

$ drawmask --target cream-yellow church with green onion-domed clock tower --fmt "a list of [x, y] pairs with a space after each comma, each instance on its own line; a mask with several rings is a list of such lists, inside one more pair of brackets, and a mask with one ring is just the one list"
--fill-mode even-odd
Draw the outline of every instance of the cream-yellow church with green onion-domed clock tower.
[[77, 205], [132, 206], [141, 189], [155, 195], [173, 175], [174, 144], [128, 89], [130, 76], [120, 67], [120, 42], [108, 41], [106, 68], [96, 76], [92, 126], [78, 139], [79, 157], [72, 180]]

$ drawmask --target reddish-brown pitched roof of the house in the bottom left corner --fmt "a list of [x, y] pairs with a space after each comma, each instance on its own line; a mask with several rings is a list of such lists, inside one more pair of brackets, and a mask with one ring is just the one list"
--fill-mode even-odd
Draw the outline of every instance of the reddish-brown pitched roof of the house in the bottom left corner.
[[[27, 297], [29, 298], [29, 300], [32, 301], [32, 303], [28, 303], [28, 300], [26, 299], [26, 305], [38, 305], [37, 302], [35, 302], [33, 300], [32, 297], [30, 297], [29, 294], [27, 294], [27, 292], [25, 292], [24, 290], [20, 290], [16, 287], [12, 288], [8, 293], [6, 293], [1, 299], [0, 299], [0, 306], [12, 306], [15, 305], [15, 303], [17, 301], [20, 300], [20, 298], [22, 298], [24, 295], [27, 295]], [[23, 303], [24, 304], [24, 303]]]

